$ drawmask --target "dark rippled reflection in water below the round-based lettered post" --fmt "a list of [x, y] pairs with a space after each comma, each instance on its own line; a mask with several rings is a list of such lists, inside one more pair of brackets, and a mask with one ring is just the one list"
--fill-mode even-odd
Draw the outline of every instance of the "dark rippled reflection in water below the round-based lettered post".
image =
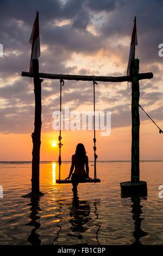
[[[142, 198], [142, 199], [147, 199], [147, 198]], [[134, 222], [135, 230], [133, 232], [133, 236], [135, 237], [135, 242], [133, 243], [133, 245], [142, 245], [142, 243], [140, 242], [140, 238], [148, 235], [148, 233], [141, 229], [141, 222], [142, 220], [144, 220], [144, 218], [140, 217], [141, 214], [143, 213], [142, 212], [143, 206], [140, 204], [141, 203], [140, 196], [138, 195], [131, 196], [131, 202], [133, 203], [131, 205], [131, 208], [132, 208], [131, 212], [133, 213], [133, 220], [135, 221]]]

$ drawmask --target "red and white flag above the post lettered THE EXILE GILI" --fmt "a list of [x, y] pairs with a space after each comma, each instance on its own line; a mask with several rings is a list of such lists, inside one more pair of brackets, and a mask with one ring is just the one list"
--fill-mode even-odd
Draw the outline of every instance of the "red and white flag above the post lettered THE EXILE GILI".
[[135, 58], [135, 45], [137, 45], [137, 33], [136, 33], [136, 17], [134, 19], [133, 33], [131, 37], [130, 54], [127, 66], [127, 76], [130, 75], [131, 60]]

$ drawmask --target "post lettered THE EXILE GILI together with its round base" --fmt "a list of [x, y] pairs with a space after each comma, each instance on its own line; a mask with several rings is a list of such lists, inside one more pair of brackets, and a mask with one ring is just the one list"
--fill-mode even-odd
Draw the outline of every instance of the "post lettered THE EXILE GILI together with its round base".
[[133, 59], [131, 62], [131, 83], [132, 83], [132, 100], [131, 100], [131, 116], [132, 116], [132, 144], [131, 144], [131, 181], [121, 182], [121, 195], [147, 196], [147, 182], [140, 181], [139, 170], [139, 59]]

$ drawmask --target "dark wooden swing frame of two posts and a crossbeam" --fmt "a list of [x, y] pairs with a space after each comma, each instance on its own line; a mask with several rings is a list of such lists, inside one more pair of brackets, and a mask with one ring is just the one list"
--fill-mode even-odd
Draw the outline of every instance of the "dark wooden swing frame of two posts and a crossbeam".
[[[35, 122], [34, 122], [34, 132], [32, 133], [33, 141], [33, 151], [32, 151], [32, 193], [40, 193], [40, 145], [41, 145], [41, 83], [42, 79], [48, 78], [59, 80], [60, 75], [58, 74], [45, 74], [39, 73], [39, 60], [33, 59], [33, 69], [34, 73], [23, 72], [23, 77], [34, 77], [34, 93], [35, 93]], [[135, 155], [135, 152], [139, 152], [139, 132], [135, 135], [134, 129], [136, 127], [139, 131], [140, 121], [139, 121], [139, 105], [135, 105], [134, 95], [137, 95], [136, 101], [139, 102], [139, 80], [151, 79], [153, 78], [153, 73], [142, 73], [139, 74], [139, 60], [133, 60], [133, 74], [130, 76], [121, 77], [110, 77], [110, 76], [79, 76], [79, 75], [62, 75], [63, 80], [76, 80], [76, 81], [96, 81], [101, 82], [131, 82], [132, 83], [132, 144], [131, 144], [131, 181], [139, 182], [139, 154]], [[136, 114], [135, 114], [136, 113]], [[135, 126], [137, 123], [137, 126]], [[134, 141], [136, 140], [136, 148]], [[135, 151], [136, 150], [136, 151]], [[136, 177], [136, 178], [135, 178]], [[86, 181], [88, 182], [88, 181]], [[91, 181], [89, 181], [91, 182]], [[95, 182], [92, 179], [92, 182]], [[96, 182], [99, 182], [96, 180]], [[60, 183], [62, 181], [60, 180]], [[65, 181], [64, 183], [71, 183], [70, 181]]]

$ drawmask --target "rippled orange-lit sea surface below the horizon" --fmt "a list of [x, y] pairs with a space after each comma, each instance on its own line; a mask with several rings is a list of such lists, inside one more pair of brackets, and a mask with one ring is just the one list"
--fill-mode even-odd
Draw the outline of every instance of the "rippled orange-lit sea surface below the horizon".
[[[70, 163], [61, 167], [65, 178]], [[163, 162], [141, 162], [148, 197], [121, 198], [120, 182], [130, 179], [130, 162], [98, 162], [101, 183], [80, 184], [74, 197], [71, 184], [55, 183], [58, 164], [41, 163], [45, 196], [22, 198], [30, 192], [31, 163], [1, 163], [0, 245], [162, 245], [162, 167]]]

